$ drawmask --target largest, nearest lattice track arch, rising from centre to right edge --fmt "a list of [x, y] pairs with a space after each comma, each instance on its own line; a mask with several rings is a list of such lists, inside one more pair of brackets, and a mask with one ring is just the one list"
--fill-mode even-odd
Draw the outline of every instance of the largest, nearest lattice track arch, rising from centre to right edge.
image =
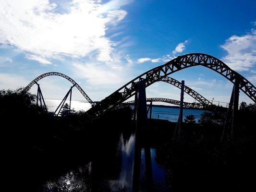
[[90, 108], [85, 112], [85, 114], [98, 116], [104, 113], [104, 111], [120, 105], [131, 96], [134, 96], [136, 91], [135, 84], [138, 81], [144, 80], [147, 87], [155, 82], [158, 82], [160, 78], [164, 78], [174, 72], [178, 72], [182, 69], [193, 66], [207, 67], [215, 72], [218, 72], [233, 84], [235, 83], [235, 79], [239, 80], [240, 90], [242, 90], [248, 97], [256, 102], [256, 87], [242, 75], [233, 71], [225, 63], [215, 57], [202, 53], [191, 53], [179, 56], [166, 64], [160, 65], [134, 78], [132, 81], [112, 93], [110, 96], [107, 96], [105, 99], [100, 101], [93, 108]]

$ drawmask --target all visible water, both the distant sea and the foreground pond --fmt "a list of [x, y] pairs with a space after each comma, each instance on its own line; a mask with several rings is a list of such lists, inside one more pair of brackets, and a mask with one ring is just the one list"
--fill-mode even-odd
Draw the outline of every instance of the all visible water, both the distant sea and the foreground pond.
[[[60, 104], [61, 100], [46, 99], [46, 104], [49, 111], [54, 111]], [[69, 102], [67, 102], [69, 104]], [[88, 110], [90, 104], [82, 101], [72, 101], [72, 108], [75, 110]], [[203, 110], [193, 110], [184, 109], [183, 118], [186, 115], [193, 114], [196, 120], [200, 118], [200, 114]], [[164, 119], [170, 121], [177, 121], [179, 116], [179, 108], [152, 108], [152, 117], [154, 119]], [[127, 137], [126, 137], [127, 138]], [[88, 162], [82, 167], [78, 167], [67, 171], [61, 176], [56, 176], [53, 179], [47, 180], [43, 186], [41, 186], [42, 192], [91, 192], [93, 191], [93, 186], [101, 189], [101, 191], [110, 192], [131, 192], [133, 183], [133, 167], [134, 167], [134, 144], [135, 136], [132, 133], [127, 139], [124, 139], [123, 134], [119, 138], [119, 143], [116, 149], [110, 148], [109, 151], [116, 153], [114, 157], [116, 164], [118, 166], [113, 166], [110, 168], [111, 171], [106, 171], [104, 168], [110, 167], [110, 163], [107, 161], [108, 156], [104, 156], [104, 161], [100, 160], [100, 164], [95, 164], [95, 162]], [[97, 152], [98, 153], [98, 152]], [[108, 152], [110, 153], [110, 152]], [[171, 191], [171, 183], [166, 180], [166, 171], [162, 165], [158, 164], [156, 161], [156, 149], [151, 148], [151, 162], [153, 171], [153, 184], [157, 188], [158, 192]], [[110, 153], [112, 154], [112, 153]], [[145, 152], [142, 149], [141, 155], [141, 176], [140, 184], [141, 190], [145, 191], [146, 186], [146, 166], [145, 166]], [[94, 167], [93, 167], [94, 165]], [[100, 172], [95, 173], [95, 167], [100, 165]], [[102, 169], [103, 168], [103, 169]], [[117, 176], [113, 176], [112, 173]], [[93, 174], [94, 173], [94, 174]], [[95, 179], [95, 174], [97, 176]], [[94, 176], [93, 176], [94, 175]], [[97, 180], [97, 181], [95, 181]], [[97, 184], [94, 184], [96, 182]]]

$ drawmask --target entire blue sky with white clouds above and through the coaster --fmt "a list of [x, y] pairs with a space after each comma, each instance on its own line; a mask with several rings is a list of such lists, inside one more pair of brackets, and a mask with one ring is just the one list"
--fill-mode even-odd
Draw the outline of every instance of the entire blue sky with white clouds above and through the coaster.
[[[194, 52], [219, 58], [256, 84], [255, 10], [255, 0], [0, 0], [0, 89], [55, 71], [101, 100], [141, 73]], [[232, 84], [204, 67], [171, 77], [209, 100], [230, 99]], [[60, 77], [39, 84], [45, 97], [57, 99], [71, 85]], [[179, 99], [179, 93], [165, 83], [146, 90], [148, 97]], [[78, 91], [73, 98], [83, 100]], [[243, 93], [240, 101], [252, 102]]]

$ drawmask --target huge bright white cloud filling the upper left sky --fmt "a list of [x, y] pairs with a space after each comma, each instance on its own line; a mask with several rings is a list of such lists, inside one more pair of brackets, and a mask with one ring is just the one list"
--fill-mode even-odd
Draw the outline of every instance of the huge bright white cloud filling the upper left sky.
[[49, 0], [1, 0], [0, 43], [24, 51], [26, 58], [44, 64], [63, 56], [85, 57], [97, 53], [97, 60], [112, 61], [114, 42], [106, 30], [127, 14], [119, 9], [132, 0], [73, 0], [69, 12], [59, 13]]

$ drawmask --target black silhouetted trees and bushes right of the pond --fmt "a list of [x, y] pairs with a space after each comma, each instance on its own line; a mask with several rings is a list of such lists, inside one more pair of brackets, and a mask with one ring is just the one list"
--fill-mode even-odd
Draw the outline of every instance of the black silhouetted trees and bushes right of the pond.
[[229, 126], [221, 142], [225, 115], [207, 111], [199, 123], [195, 123], [193, 115], [187, 116], [181, 138], [174, 140], [176, 123], [152, 120], [156, 161], [166, 169], [166, 181], [172, 191], [255, 189], [256, 104], [242, 103], [233, 134]]

